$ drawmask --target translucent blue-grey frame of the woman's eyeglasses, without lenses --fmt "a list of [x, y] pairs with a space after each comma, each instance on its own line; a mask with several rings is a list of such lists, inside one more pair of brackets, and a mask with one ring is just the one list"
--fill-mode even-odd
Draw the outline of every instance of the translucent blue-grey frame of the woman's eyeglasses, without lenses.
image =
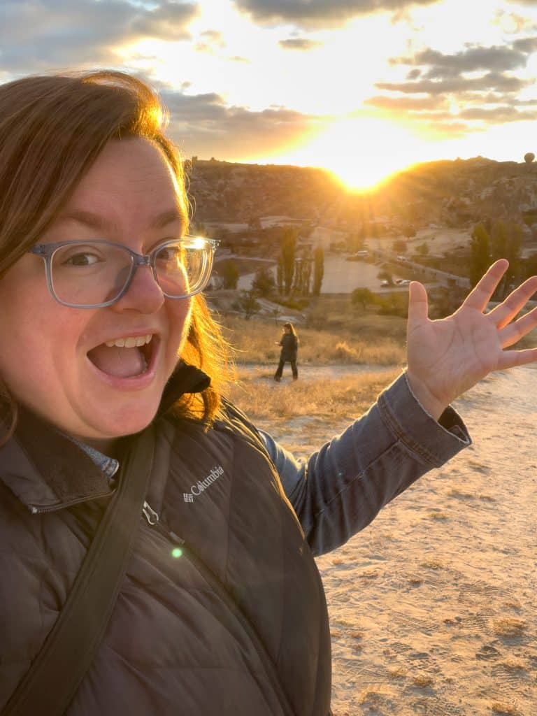
[[[190, 241], [195, 241], [196, 244], [200, 246], [200, 251], [205, 251], [207, 256], [207, 263], [205, 265], [205, 270], [203, 271], [203, 276], [201, 277], [201, 280], [199, 282], [199, 285], [196, 286], [194, 291], [188, 291], [185, 294], [181, 294], [180, 296], [172, 296], [171, 294], [167, 294], [163, 287], [160, 285], [160, 281], [158, 280], [157, 271], [155, 268], [155, 259], [156, 256], [160, 251], [163, 250], [163, 248], [166, 248], [167, 246], [172, 246], [173, 244], [181, 243], [181, 242], [188, 243]], [[100, 243], [100, 244], [107, 244], [107, 246], [115, 246], [117, 248], [121, 248], [125, 253], [128, 253], [131, 260], [131, 266], [130, 266], [130, 272], [127, 276], [127, 279], [125, 280], [125, 286], [121, 289], [119, 294], [117, 296], [114, 296], [113, 299], [110, 299], [110, 301], [103, 301], [102, 303], [97, 304], [74, 304], [69, 303], [68, 301], [63, 301], [62, 299], [57, 296], [56, 291], [54, 291], [54, 281], [52, 278], [52, 260], [54, 258], [54, 253], [58, 251], [59, 248], [63, 248], [64, 246], [76, 246], [79, 244], [88, 244], [88, 243]], [[200, 294], [203, 289], [205, 289], [205, 286], [207, 286], [209, 279], [211, 278], [211, 271], [213, 269], [213, 258], [214, 253], [216, 249], [218, 248], [218, 245], [220, 244], [220, 241], [216, 238], [205, 238], [204, 236], [190, 236], [186, 234], [185, 236], [181, 236], [180, 238], [174, 238], [170, 241], [165, 241], [163, 243], [160, 243], [158, 246], [155, 246], [153, 248], [153, 251], [150, 251], [150, 253], [137, 253], [136, 251], [132, 251], [131, 248], [128, 248], [128, 246], [125, 246], [122, 243], [117, 243], [116, 241], [107, 241], [107, 239], [104, 238], [95, 238], [95, 239], [75, 239], [72, 241], [57, 241], [55, 243], [36, 243], [32, 248], [28, 250], [27, 253], [34, 253], [37, 256], [41, 256], [41, 258], [44, 260], [45, 263], [45, 274], [47, 276], [47, 286], [49, 289], [49, 292], [52, 296], [52, 298], [57, 301], [59, 304], [62, 304], [62, 306], [68, 306], [69, 308], [74, 309], [97, 309], [97, 308], [106, 308], [107, 306], [112, 306], [117, 301], [119, 301], [122, 296], [125, 296], [127, 291], [130, 288], [130, 284], [132, 284], [132, 279], [134, 279], [136, 271], [138, 266], [148, 266], [152, 273], [153, 278], [155, 279], [156, 283], [160, 287], [160, 290], [163, 291], [163, 295], [167, 299], [188, 299], [190, 296], [195, 296], [195, 294]]]

